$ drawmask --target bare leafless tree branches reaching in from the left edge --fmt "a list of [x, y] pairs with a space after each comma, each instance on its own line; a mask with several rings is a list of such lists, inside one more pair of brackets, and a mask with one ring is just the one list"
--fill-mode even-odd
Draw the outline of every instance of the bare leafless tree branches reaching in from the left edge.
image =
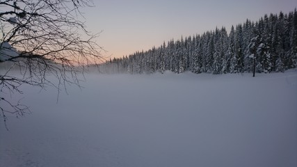
[[[22, 74], [14, 76], [11, 68], [1, 68], [0, 102], [5, 105], [0, 107], [0, 117], [4, 122], [6, 113], [23, 116], [29, 108], [9, 102], [3, 93], [22, 93], [22, 84], [54, 86], [58, 92], [67, 84], [80, 86], [78, 74], [86, 65], [104, 61], [104, 49], [95, 42], [99, 34], [88, 32], [80, 21], [80, 9], [91, 6], [91, 0], [0, 1], [0, 67], [13, 62], [13, 68], [18, 67]], [[48, 76], [56, 77], [58, 83]]]

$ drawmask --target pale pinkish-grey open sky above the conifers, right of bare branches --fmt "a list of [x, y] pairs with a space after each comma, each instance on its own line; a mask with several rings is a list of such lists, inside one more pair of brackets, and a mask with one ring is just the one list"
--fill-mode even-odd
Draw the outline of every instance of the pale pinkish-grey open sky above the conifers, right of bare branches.
[[289, 13], [297, 0], [94, 0], [83, 10], [88, 30], [102, 31], [97, 42], [121, 57], [159, 47], [170, 39], [257, 21], [264, 14]]

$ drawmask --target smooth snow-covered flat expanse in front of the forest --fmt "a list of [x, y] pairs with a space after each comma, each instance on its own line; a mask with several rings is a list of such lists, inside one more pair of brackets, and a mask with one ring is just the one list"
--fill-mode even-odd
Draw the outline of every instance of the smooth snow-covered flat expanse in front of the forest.
[[297, 166], [296, 70], [251, 75], [88, 74], [58, 104], [24, 86], [0, 166]]

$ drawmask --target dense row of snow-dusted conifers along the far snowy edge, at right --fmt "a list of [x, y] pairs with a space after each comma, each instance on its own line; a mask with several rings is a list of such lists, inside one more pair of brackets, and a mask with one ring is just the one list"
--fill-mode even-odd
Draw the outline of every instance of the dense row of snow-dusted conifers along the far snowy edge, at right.
[[283, 72], [297, 66], [297, 11], [264, 15], [232, 26], [164, 42], [160, 47], [99, 66], [104, 73], [153, 73], [170, 70], [212, 74]]

